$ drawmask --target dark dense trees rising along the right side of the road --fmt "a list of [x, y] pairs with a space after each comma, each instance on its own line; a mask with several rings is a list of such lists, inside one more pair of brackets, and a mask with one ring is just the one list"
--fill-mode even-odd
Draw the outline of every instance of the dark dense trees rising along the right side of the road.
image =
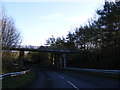
[[82, 50], [79, 55], [68, 55], [68, 66], [120, 69], [120, 2], [105, 2], [96, 13], [97, 20], [89, 20], [66, 37], [52, 36], [46, 44], [55, 49]]

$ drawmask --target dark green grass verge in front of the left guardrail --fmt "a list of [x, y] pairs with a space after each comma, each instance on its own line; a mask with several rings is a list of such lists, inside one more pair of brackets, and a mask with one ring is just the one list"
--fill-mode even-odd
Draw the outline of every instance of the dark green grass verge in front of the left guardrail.
[[30, 71], [24, 75], [14, 76], [14, 77], [6, 77], [2, 80], [2, 88], [20, 88], [29, 81], [31, 81], [36, 76], [35, 71]]

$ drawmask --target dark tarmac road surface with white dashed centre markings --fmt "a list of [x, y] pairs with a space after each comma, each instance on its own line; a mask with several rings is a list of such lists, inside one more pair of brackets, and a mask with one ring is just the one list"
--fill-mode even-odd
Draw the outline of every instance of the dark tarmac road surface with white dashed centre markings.
[[120, 88], [120, 82], [102, 77], [44, 68], [34, 68], [33, 70], [37, 71], [37, 78], [26, 88], [73, 88], [74, 90]]

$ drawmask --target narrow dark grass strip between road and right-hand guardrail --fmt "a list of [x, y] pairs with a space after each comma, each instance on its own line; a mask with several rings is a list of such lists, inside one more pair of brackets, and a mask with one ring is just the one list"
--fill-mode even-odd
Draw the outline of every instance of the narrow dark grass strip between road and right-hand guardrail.
[[82, 71], [82, 70], [68, 70], [68, 69], [65, 69], [64, 71], [74, 72], [74, 73], [79, 73], [79, 74], [88, 74], [88, 75], [92, 75], [92, 76], [96, 76], [96, 77], [102, 77], [102, 78], [105, 78], [105, 79], [111, 79], [111, 80], [115, 80], [115, 81], [120, 82], [120, 74], [108, 74], [108, 73]]

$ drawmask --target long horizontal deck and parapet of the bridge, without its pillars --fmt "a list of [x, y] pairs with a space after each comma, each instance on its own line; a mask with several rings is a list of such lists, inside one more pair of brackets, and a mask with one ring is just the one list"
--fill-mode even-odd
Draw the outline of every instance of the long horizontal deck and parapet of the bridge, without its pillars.
[[35, 52], [62, 52], [62, 53], [80, 53], [81, 50], [69, 50], [62, 48], [53, 48], [50, 46], [27, 46], [27, 45], [18, 45], [16, 47], [11, 47], [10, 50], [18, 51], [35, 51]]

